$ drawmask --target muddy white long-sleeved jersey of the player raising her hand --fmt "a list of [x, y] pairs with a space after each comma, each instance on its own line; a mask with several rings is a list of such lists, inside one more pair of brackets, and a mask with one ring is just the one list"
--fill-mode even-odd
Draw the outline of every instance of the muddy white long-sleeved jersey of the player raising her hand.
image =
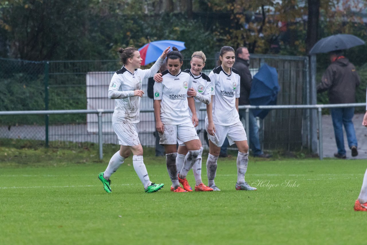
[[146, 70], [135, 69], [134, 73], [123, 66], [113, 74], [108, 98], [115, 99], [115, 111], [112, 115], [113, 123], [138, 123], [140, 97], [134, 96], [134, 90], [141, 89], [142, 80], [155, 75], [163, 63], [160, 57], [155, 64]]

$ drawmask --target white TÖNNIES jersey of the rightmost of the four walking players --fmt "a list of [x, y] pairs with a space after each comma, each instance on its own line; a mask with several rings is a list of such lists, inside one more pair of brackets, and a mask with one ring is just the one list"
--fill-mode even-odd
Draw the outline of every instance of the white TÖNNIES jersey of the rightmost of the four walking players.
[[[235, 68], [227, 74], [222, 66], [214, 68], [210, 74], [213, 95], [212, 116], [214, 124], [228, 126], [240, 121], [236, 109], [236, 98], [240, 97], [240, 75]], [[208, 116], [205, 118], [208, 121]]]

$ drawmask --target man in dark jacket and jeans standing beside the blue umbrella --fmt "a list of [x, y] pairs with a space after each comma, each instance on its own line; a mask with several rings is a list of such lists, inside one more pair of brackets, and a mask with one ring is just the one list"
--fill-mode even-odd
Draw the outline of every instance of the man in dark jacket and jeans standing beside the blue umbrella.
[[[250, 54], [248, 53], [248, 49], [246, 47], [239, 47], [236, 50], [236, 61], [233, 64], [233, 68], [235, 68], [240, 75], [240, 98], [238, 99], [239, 105], [250, 105], [250, 101], [248, 97], [250, 96], [251, 90], [251, 82], [252, 76], [248, 66], [250, 65]], [[246, 111], [239, 110], [240, 120], [246, 118]], [[259, 127], [256, 122], [256, 118], [252, 111], [248, 114], [248, 126], [249, 129], [246, 130], [250, 136], [250, 147], [252, 149], [252, 154], [255, 157], [269, 158], [271, 155], [264, 154], [261, 150], [260, 140], [259, 140]], [[226, 157], [227, 147], [229, 145], [228, 139], [226, 138], [222, 147], [219, 156]]]

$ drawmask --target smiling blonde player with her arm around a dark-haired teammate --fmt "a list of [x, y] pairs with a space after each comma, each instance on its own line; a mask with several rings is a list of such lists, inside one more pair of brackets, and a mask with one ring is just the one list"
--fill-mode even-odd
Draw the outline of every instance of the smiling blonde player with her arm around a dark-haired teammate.
[[[188, 96], [194, 97], [195, 100], [195, 109], [196, 109], [196, 116], [199, 119], [199, 109], [201, 106], [201, 103], [204, 103], [207, 105], [210, 104], [211, 101], [211, 82], [210, 78], [205, 75], [204, 73], [201, 73], [205, 66], [206, 56], [202, 51], [196, 51], [191, 56], [191, 69], [186, 69], [185, 71], [190, 74], [192, 77], [192, 85], [193, 87], [189, 88], [188, 90]], [[161, 73], [157, 73], [154, 75], [154, 80], [156, 82], [162, 82]], [[189, 114], [192, 116], [192, 112], [189, 109]], [[177, 166], [177, 172], [178, 177], [180, 179], [184, 178], [185, 176], [180, 175], [181, 169], [184, 165], [184, 162], [187, 161], [187, 158], [189, 157], [188, 149], [185, 146], [185, 144], [181, 144], [178, 147], [177, 157], [176, 157], [176, 166]], [[210, 187], [207, 187], [203, 184], [203, 181], [201, 180], [201, 155], [203, 154], [203, 146], [200, 142], [200, 154], [198, 158], [199, 161], [196, 161], [195, 165], [192, 167], [194, 177], [195, 177], [195, 191], [212, 191], [213, 189]], [[192, 191], [192, 188], [190, 186], [184, 186], [186, 187], [186, 191]], [[173, 188], [173, 187], [171, 187]]]

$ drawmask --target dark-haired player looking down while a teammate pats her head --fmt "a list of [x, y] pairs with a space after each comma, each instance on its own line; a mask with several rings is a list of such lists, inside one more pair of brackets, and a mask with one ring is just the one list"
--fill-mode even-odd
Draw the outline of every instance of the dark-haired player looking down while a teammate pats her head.
[[[187, 173], [199, 161], [200, 140], [195, 126], [198, 124], [194, 98], [188, 96], [188, 88], [192, 87], [189, 73], [181, 71], [182, 54], [173, 47], [167, 54], [168, 70], [162, 72], [161, 83], [154, 84], [154, 113], [156, 116], [156, 129], [160, 135], [160, 144], [166, 150], [166, 165], [168, 175], [172, 181], [171, 190], [174, 192], [187, 192], [190, 186], [186, 180]], [[193, 112], [192, 119], [188, 107]], [[189, 150], [186, 163], [178, 177], [176, 167], [177, 148], [185, 144]], [[181, 183], [185, 190], [181, 188]]]

